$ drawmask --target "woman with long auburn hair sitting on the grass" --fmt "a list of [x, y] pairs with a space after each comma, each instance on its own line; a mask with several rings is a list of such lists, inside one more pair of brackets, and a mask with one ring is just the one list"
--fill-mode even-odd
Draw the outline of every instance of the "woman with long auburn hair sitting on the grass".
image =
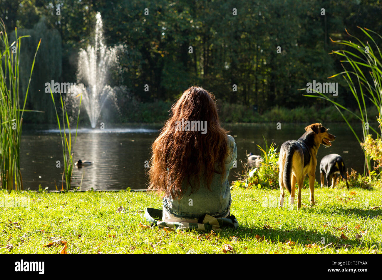
[[227, 178], [236, 157], [214, 96], [201, 87], [186, 90], [152, 144], [149, 189], [164, 192], [163, 221], [201, 224], [206, 214], [235, 219]]

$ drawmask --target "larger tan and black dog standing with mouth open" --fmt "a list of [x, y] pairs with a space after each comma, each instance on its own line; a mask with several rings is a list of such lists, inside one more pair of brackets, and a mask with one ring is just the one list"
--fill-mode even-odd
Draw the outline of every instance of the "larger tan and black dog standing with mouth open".
[[310, 201], [314, 205], [314, 181], [316, 178], [317, 151], [320, 145], [332, 146], [335, 136], [320, 123], [313, 123], [305, 128], [300, 139], [289, 140], [282, 144], [278, 158], [278, 183], [280, 184], [280, 207], [284, 202], [284, 187], [290, 192], [291, 205], [295, 200], [295, 187], [298, 184], [298, 209], [301, 208], [301, 189], [304, 176], [309, 175]]

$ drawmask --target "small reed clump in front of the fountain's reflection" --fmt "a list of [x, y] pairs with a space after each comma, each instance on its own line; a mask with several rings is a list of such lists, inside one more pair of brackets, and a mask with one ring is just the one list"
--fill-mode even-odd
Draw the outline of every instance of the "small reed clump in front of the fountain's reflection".
[[[68, 111], [66, 110], [65, 101], [63, 101], [62, 95], [60, 93], [60, 101], [61, 101], [61, 108], [62, 108], [62, 128], [61, 128], [60, 118], [58, 116], [58, 112], [57, 112], [57, 108], [56, 108], [56, 102], [54, 101], [52, 89], [50, 89], [50, 95], [52, 96], [52, 101], [53, 101], [53, 105], [54, 105], [54, 109], [55, 109], [56, 117], [57, 117], [58, 129], [60, 130], [61, 144], [62, 144], [62, 155], [63, 155], [63, 159], [64, 159], [64, 171], [62, 173], [62, 189], [61, 190], [64, 190], [64, 177], [65, 177], [66, 190], [70, 190], [71, 189], [71, 175], [73, 173], [73, 168], [74, 168], [73, 155], [74, 155], [74, 147], [76, 146], [76, 141], [77, 141], [79, 112], [81, 109], [82, 94], [78, 94], [76, 96], [76, 97], [78, 97], [81, 95], [81, 98], [79, 100], [77, 125], [76, 125], [76, 136], [74, 137], [73, 150], [72, 150], [72, 145], [71, 145], [71, 128], [70, 128], [69, 116], [68, 116]], [[66, 134], [66, 128], [68, 128], [68, 134]]]

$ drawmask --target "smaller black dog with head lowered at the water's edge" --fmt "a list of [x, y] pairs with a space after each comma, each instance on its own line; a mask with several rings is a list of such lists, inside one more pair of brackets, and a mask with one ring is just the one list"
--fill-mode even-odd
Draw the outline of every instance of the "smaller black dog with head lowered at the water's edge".
[[320, 163], [320, 173], [321, 187], [324, 186], [324, 178], [326, 178], [327, 186], [330, 187], [330, 181], [332, 181], [332, 189], [334, 189], [337, 174], [340, 174], [342, 178], [345, 179], [346, 187], [349, 189], [345, 163], [343, 163], [343, 159], [340, 155], [325, 155]]

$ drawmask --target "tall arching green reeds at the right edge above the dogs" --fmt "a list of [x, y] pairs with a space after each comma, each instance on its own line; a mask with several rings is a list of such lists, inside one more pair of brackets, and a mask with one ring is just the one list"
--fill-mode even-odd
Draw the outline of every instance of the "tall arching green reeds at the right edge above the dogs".
[[[380, 119], [382, 116], [382, 54], [379, 46], [370, 34], [375, 34], [380, 39], [382, 39], [382, 37], [370, 29], [362, 28], [359, 26], [357, 27], [361, 29], [363, 33], [371, 40], [372, 45], [369, 43], [369, 41], [367, 41], [366, 44], [364, 44], [357, 37], [350, 35], [346, 29], [346, 33], [352, 38], [354, 38], [356, 40], [356, 43], [351, 42], [350, 40], [333, 41], [330, 38], [330, 40], [332, 40], [333, 43], [348, 46], [352, 51], [337, 50], [332, 51], [332, 53], [330, 53], [343, 56], [345, 59], [341, 60], [340, 62], [346, 62], [347, 64], [345, 67], [344, 64], [341, 63], [341, 66], [343, 67], [344, 71], [330, 76], [329, 78], [342, 75], [342, 77], [345, 79], [346, 83], [349, 86], [349, 89], [353, 95], [353, 98], [356, 101], [356, 104], [358, 105], [359, 113], [354, 113], [350, 111], [348, 108], [329, 98], [327, 95], [317, 91], [315, 92], [319, 95], [304, 96], [322, 98], [327, 101], [330, 101], [338, 110], [338, 112], [340, 112], [343, 119], [348, 124], [350, 130], [356, 137], [357, 141], [361, 144], [361, 142], [365, 141], [367, 135], [369, 134], [369, 130], [372, 130], [374, 133], [376, 133], [377, 138], [380, 138], [382, 136], [381, 126], [379, 126], [379, 129], [374, 129], [369, 123], [369, 116], [367, 114], [368, 105], [366, 103], [366, 100], [369, 100], [373, 104], [372, 106], [375, 106], [377, 108], [379, 116], [376, 116], [376, 120]], [[353, 126], [350, 124], [350, 122], [348, 122], [341, 109], [348, 111], [361, 122], [363, 134], [361, 137], [359, 137], [354, 131]], [[367, 173], [370, 174], [370, 172], [372, 171], [370, 156], [366, 153], [364, 149], [363, 152], [365, 155], [364, 174], [366, 174], [366, 169], [368, 171]]]

